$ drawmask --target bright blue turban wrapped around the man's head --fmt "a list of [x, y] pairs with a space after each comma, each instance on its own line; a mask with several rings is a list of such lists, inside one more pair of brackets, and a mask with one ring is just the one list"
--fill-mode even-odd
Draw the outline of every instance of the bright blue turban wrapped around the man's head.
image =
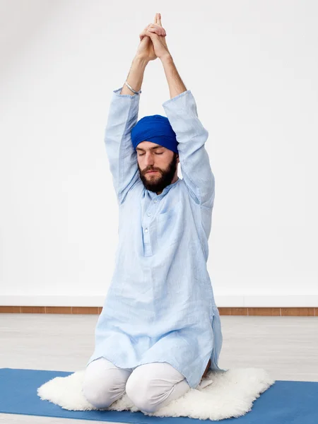
[[169, 119], [158, 114], [139, 119], [131, 129], [131, 141], [135, 150], [141, 141], [151, 141], [178, 153], [177, 136]]

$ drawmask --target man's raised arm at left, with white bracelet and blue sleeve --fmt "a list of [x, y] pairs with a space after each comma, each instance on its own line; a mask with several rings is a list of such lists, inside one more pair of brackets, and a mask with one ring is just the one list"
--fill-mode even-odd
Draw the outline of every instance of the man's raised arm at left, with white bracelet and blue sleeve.
[[131, 143], [131, 129], [138, 120], [143, 73], [148, 62], [157, 59], [151, 39], [146, 36], [146, 30], [151, 28], [156, 33], [165, 35], [165, 30], [159, 28], [156, 22], [157, 16], [154, 23], [148, 24], [139, 34], [139, 48], [126, 78], [126, 82], [137, 94], [126, 85], [112, 93], [104, 140], [119, 205], [126, 199], [126, 194], [134, 184], [140, 180], [137, 154]]

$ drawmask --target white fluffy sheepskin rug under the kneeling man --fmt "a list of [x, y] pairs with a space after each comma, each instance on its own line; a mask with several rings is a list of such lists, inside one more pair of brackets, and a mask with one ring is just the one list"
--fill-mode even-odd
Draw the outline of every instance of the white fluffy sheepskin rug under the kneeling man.
[[[81, 387], [85, 370], [76, 371], [67, 377], [55, 377], [37, 389], [40, 399], [50, 401], [71, 411], [98, 410], [83, 396]], [[226, 372], [210, 370], [196, 389], [148, 416], [190, 417], [202, 420], [222, 420], [239, 417], [251, 411], [253, 401], [275, 382], [261, 368], [235, 368]], [[139, 411], [131, 403], [126, 392], [101, 411]]]

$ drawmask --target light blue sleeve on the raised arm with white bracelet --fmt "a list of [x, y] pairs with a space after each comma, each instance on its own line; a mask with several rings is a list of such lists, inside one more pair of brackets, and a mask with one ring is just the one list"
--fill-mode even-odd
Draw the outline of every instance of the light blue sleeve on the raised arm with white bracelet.
[[122, 87], [113, 91], [105, 129], [107, 157], [119, 205], [140, 179], [137, 153], [131, 143], [131, 129], [138, 120], [141, 90], [138, 95], [119, 94], [121, 90]]

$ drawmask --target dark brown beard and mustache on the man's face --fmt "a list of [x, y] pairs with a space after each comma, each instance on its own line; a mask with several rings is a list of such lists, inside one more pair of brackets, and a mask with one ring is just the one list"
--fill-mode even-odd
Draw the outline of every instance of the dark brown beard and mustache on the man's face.
[[[148, 168], [145, 171], [141, 171], [139, 164], [139, 176], [141, 178], [141, 181], [143, 182], [143, 185], [146, 187], [147, 190], [150, 192], [162, 192], [167, 185], [171, 184], [172, 179], [175, 177], [175, 171], [177, 170], [177, 153], [173, 152], [173, 158], [169, 165], [167, 166], [166, 170], [160, 170], [157, 168]], [[148, 171], [158, 171], [154, 174], [147, 174]]]

